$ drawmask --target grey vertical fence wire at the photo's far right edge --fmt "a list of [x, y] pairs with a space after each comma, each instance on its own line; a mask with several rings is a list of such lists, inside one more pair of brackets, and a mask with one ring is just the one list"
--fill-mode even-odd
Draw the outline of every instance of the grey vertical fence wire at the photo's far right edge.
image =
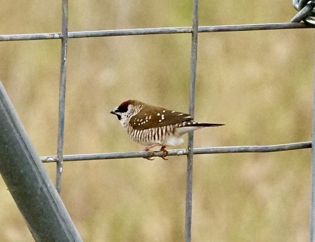
[[[314, 54], [315, 60], [315, 54]], [[310, 241], [315, 242], [315, 64], [313, 83], [313, 128], [312, 128], [312, 163], [311, 163], [311, 212], [310, 212]]]

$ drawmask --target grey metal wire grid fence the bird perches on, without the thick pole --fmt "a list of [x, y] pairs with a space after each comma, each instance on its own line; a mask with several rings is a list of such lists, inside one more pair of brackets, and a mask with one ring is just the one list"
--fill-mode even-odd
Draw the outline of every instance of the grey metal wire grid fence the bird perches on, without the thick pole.
[[[0, 35], [0, 41], [17, 40], [40, 40], [40, 39], [61, 39], [61, 67], [60, 67], [60, 96], [59, 96], [59, 118], [58, 118], [58, 146], [57, 155], [42, 156], [42, 162], [56, 162], [57, 176], [56, 188], [61, 193], [63, 161], [99, 160], [117, 158], [135, 158], [162, 156], [162, 151], [153, 154], [147, 151], [116, 152], [116, 153], [91, 153], [63, 155], [63, 134], [64, 134], [64, 110], [65, 110], [65, 84], [66, 84], [66, 63], [67, 63], [67, 40], [68, 38], [104, 37], [104, 36], [126, 36], [146, 34], [191, 34], [191, 56], [190, 56], [190, 92], [189, 92], [189, 114], [193, 116], [195, 106], [195, 80], [197, 66], [197, 40], [198, 33], [202, 32], [226, 32], [226, 31], [248, 31], [248, 30], [284, 30], [284, 29], [306, 29], [314, 28], [315, 16], [314, 1], [293, 0], [294, 7], [299, 11], [291, 20], [292, 23], [272, 24], [251, 24], [251, 25], [228, 25], [228, 26], [198, 26], [198, 0], [192, 4], [192, 26], [175, 28], [148, 28], [148, 29], [127, 29], [127, 30], [97, 30], [97, 31], [75, 31], [68, 32], [68, 1], [62, 1], [63, 19], [62, 32], [34, 33], [34, 34], [8, 34]], [[304, 20], [305, 23], [298, 23]], [[191, 241], [191, 201], [192, 201], [192, 167], [194, 154], [211, 153], [239, 153], [239, 152], [276, 152], [312, 148], [312, 184], [311, 184], [311, 214], [310, 214], [310, 240], [314, 241], [315, 235], [315, 100], [313, 101], [313, 129], [312, 141], [291, 144], [267, 145], [267, 146], [231, 146], [214, 148], [193, 148], [193, 133], [189, 133], [188, 149], [169, 150], [168, 155], [187, 155], [187, 189], [186, 189], [186, 216], [185, 216], [185, 239]]]

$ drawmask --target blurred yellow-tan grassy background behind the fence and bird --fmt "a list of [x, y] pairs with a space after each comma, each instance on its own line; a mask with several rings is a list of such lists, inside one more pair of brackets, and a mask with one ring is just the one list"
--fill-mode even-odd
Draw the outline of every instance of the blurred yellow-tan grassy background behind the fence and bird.
[[[59, 32], [61, 1], [1, 1], [1, 34]], [[291, 1], [200, 1], [200, 25], [289, 22]], [[70, 1], [69, 31], [191, 25], [191, 2]], [[195, 147], [310, 141], [314, 31], [200, 33]], [[0, 43], [0, 80], [39, 155], [57, 150], [60, 40]], [[190, 34], [69, 39], [64, 153], [139, 151], [112, 108], [186, 112]], [[186, 144], [180, 146], [185, 148]], [[176, 147], [179, 148], [179, 147]], [[196, 155], [193, 241], [308, 241], [310, 150]], [[55, 181], [55, 164], [45, 164]], [[186, 157], [65, 162], [85, 241], [183, 241]], [[0, 180], [0, 240], [32, 241]]]

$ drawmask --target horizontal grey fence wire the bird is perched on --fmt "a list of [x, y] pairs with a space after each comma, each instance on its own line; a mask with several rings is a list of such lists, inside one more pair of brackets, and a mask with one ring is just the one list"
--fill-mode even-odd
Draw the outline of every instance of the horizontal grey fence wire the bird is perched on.
[[[211, 148], [194, 148], [193, 154], [221, 154], [221, 153], [251, 153], [251, 152], [276, 152], [276, 151], [292, 151], [300, 149], [312, 148], [312, 142], [300, 142], [281, 145], [268, 146], [226, 146]], [[187, 149], [168, 150], [167, 156], [187, 155]], [[115, 152], [115, 153], [91, 153], [91, 154], [67, 154], [63, 155], [63, 161], [80, 161], [80, 160], [106, 160], [106, 159], [122, 159], [122, 158], [140, 158], [140, 157], [162, 157], [162, 151], [153, 154], [147, 151], [131, 151], [131, 152]], [[57, 157], [41, 156], [42, 162], [56, 162]]]

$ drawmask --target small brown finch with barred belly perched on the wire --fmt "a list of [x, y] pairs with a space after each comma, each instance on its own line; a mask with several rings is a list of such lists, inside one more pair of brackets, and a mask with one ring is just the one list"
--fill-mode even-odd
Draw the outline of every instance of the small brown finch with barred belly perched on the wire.
[[[184, 142], [184, 134], [204, 127], [218, 127], [222, 123], [196, 122], [190, 114], [146, 104], [138, 100], [122, 102], [111, 112], [117, 116], [127, 135], [135, 142], [146, 146], [144, 151], [161, 146], [161, 156], [165, 156], [168, 146], [177, 146]], [[147, 158], [152, 160], [150, 158]]]

